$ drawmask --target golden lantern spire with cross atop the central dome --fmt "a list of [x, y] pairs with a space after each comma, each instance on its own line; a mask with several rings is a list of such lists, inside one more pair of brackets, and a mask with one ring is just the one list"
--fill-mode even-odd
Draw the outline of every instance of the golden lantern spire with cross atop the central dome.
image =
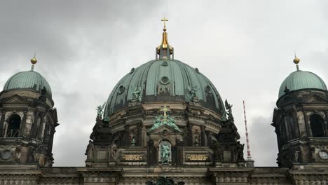
[[168, 21], [168, 18], [163, 18], [161, 21], [164, 23], [163, 28], [163, 34], [162, 34], [162, 43], [160, 43], [160, 46], [156, 48], [156, 59], [170, 59], [172, 55], [172, 59], [174, 57], [173, 55], [173, 48], [168, 43], [168, 33], [166, 32], [166, 22]]

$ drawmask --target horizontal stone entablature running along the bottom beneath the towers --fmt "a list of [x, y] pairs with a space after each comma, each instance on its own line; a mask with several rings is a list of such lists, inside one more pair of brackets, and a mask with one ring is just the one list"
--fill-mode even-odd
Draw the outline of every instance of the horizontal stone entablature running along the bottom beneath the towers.
[[[10, 170], [9, 170], [10, 169]], [[185, 184], [327, 184], [327, 167], [41, 167], [0, 169], [0, 184], [140, 184], [160, 177]]]

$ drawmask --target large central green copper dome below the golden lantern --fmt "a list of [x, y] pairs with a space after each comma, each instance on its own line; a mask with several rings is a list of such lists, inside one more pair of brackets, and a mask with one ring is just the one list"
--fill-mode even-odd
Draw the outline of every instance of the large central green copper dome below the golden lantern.
[[[137, 93], [136, 93], [137, 92]], [[206, 76], [179, 60], [151, 60], [132, 68], [117, 83], [107, 100], [109, 115], [128, 107], [134, 95], [142, 103], [198, 102], [219, 114], [224, 112], [221, 97]]]

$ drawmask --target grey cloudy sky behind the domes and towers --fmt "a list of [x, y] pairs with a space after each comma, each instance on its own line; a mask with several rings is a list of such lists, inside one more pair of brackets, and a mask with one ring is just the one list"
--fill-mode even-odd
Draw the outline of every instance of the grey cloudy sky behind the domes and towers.
[[35, 70], [53, 91], [55, 166], [83, 166], [97, 105], [132, 67], [155, 57], [167, 17], [175, 58], [198, 67], [233, 104], [252, 157], [275, 166], [272, 121], [280, 83], [296, 69], [328, 81], [328, 1], [1, 1], [0, 85]]

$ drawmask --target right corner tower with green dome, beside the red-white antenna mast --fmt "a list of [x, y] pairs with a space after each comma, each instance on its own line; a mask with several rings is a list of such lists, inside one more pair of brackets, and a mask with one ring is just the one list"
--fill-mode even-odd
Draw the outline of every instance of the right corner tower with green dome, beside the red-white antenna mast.
[[328, 91], [322, 78], [299, 69], [289, 74], [279, 90], [273, 126], [278, 139], [278, 165], [328, 164]]

